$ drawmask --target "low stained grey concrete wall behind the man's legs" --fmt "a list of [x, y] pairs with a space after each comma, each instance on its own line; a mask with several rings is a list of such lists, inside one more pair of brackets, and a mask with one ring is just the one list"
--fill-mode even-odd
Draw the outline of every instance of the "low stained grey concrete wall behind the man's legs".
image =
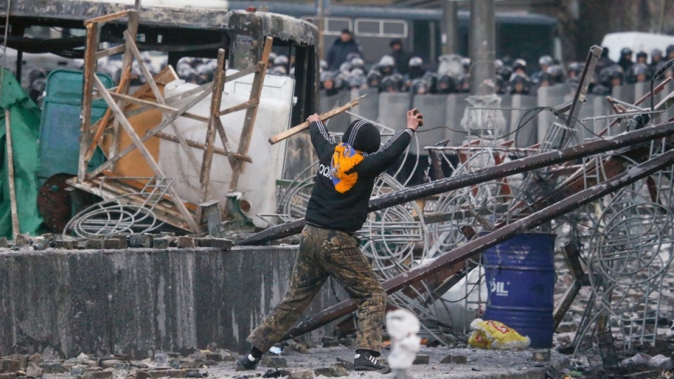
[[[0, 251], [0, 356], [231, 350], [281, 300], [296, 246]], [[308, 312], [334, 303], [326, 286]], [[317, 337], [321, 331], [315, 332]]]

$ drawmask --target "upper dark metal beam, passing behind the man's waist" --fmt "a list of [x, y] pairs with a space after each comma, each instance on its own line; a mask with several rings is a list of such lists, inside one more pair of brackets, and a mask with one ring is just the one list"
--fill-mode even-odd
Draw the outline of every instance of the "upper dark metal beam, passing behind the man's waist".
[[[442, 194], [443, 192], [449, 192], [454, 189], [477, 185], [482, 182], [489, 182], [490, 180], [504, 178], [506, 176], [551, 166], [553, 164], [560, 164], [564, 161], [590, 157], [594, 154], [608, 152], [610, 150], [635, 145], [641, 142], [648, 142], [670, 135], [674, 135], [673, 123], [642, 128], [637, 131], [622, 133], [621, 135], [615, 135], [603, 140], [593, 140], [574, 147], [567, 147], [566, 149], [532, 155], [531, 157], [484, 168], [480, 171], [475, 171], [475, 173], [453, 176], [451, 178], [436, 180], [435, 182], [426, 183], [424, 185], [416, 185], [414, 187], [373, 197], [370, 199], [368, 211], [378, 211], [391, 206], [405, 204], [409, 201]], [[239, 241], [239, 245], [257, 245], [268, 241], [274, 241], [275, 239], [289, 237], [301, 232], [304, 225], [305, 220], [303, 218], [285, 222], [281, 225], [269, 227], [262, 232], [253, 234], [252, 236]]]

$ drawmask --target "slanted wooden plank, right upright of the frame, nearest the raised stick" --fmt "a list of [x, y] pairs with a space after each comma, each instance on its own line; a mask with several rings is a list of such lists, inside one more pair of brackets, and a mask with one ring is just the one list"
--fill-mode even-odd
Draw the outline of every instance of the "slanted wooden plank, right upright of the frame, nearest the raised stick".
[[[253, 79], [253, 87], [251, 88], [250, 100], [260, 98], [262, 95], [262, 88], [265, 82], [265, 74], [267, 72], [267, 62], [269, 61], [269, 54], [272, 51], [272, 44], [274, 39], [267, 37], [265, 39], [265, 47], [263, 48], [262, 58], [258, 62], [258, 69]], [[241, 131], [241, 138], [239, 139], [238, 153], [242, 155], [248, 154], [248, 149], [251, 145], [251, 137], [253, 135], [253, 126], [258, 114], [258, 107], [250, 107], [246, 110], [246, 118], [244, 119], [244, 126]], [[244, 171], [244, 162], [236, 161], [232, 168], [232, 179], [230, 180], [230, 192], [235, 192], [239, 186], [239, 176]]]

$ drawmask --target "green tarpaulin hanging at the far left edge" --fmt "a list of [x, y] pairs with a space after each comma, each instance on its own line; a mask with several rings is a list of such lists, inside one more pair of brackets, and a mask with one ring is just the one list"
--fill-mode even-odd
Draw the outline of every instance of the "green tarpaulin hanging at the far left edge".
[[20, 232], [37, 234], [42, 218], [37, 210], [37, 170], [39, 168], [40, 109], [26, 95], [14, 75], [5, 69], [0, 88], [0, 236], [12, 238], [12, 216], [7, 171], [5, 109], [10, 112], [14, 183]]

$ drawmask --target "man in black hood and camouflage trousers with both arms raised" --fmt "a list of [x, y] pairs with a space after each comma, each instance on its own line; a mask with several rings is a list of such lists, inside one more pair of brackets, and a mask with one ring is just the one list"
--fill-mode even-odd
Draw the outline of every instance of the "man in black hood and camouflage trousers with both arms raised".
[[395, 133], [383, 147], [378, 129], [367, 121], [352, 122], [342, 142], [336, 143], [318, 114], [307, 119], [319, 166], [290, 288], [249, 335], [253, 346], [239, 358], [239, 366], [256, 368], [263, 353], [296, 324], [326, 279], [333, 277], [359, 304], [355, 370], [384, 368], [376, 357], [381, 354], [386, 293], [360, 252], [355, 232], [367, 218], [375, 179], [404, 152], [421, 119], [421, 113], [411, 109], [407, 112], [407, 128]]

